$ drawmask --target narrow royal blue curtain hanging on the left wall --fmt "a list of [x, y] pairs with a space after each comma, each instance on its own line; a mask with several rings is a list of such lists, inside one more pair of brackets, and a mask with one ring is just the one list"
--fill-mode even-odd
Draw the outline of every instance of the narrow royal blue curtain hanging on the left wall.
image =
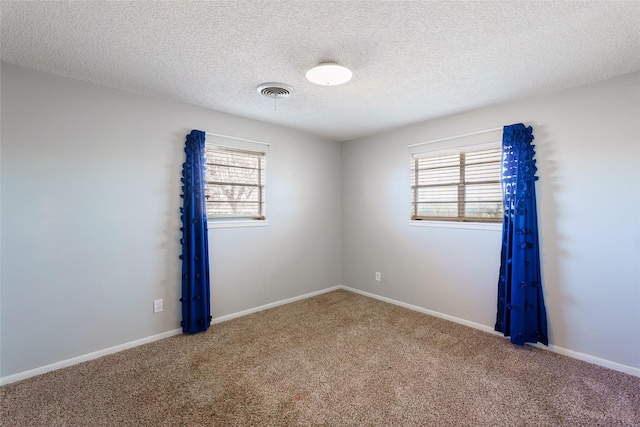
[[182, 331], [206, 331], [211, 323], [209, 250], [205, 199], [204, 132], [187, 135], [182, 164]]

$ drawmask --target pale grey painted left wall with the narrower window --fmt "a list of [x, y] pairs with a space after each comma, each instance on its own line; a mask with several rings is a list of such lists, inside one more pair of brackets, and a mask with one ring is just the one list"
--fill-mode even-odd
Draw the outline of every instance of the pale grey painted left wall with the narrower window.
[[213, 316], [340, 284], [339, 143], [6, 63], [1, 79], [0, 376], [179, 327], [191, 129], [272, 143], [269, 225], [209, 230]]

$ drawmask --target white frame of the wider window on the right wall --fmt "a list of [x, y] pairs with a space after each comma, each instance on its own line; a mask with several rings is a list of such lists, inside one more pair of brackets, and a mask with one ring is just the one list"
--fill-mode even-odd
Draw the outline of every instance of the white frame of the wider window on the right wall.
[[[503, 215], [495, 218], [483, 218], [483, 217], [466, 217], [464, 216], [464, 206], [465, 206], [465, 187], [468, 185], [477, 185], [477, 184], [499, 184], [500, 186], [500, 207], [504, 209], [503, 202], [503, 194], [502, 194], [502, 153], [500, 152], [499, 159], [497, 161], [491, 161], [489, 163], [498, 163], [500, 165], [500, 172], [498, 174], [497, 180], [487, 180], [482, 182], [468, 182], [464, 180], [465, 177], [465, 166], [468, 164], [464, 163], [464, 158], [467, 153], [472, 153], [476, 151], [490, 150], [490, 149], [502, 149], [501, 141], [492, 141], [492, 142], [483, 142], [477, 144], [466, 144], [461, 145], [449, 149], [439, 149], [439, 150], [428, 150], [419, 153], [411, 154], [411, 215], [409, 219], [409, 223], [412, 226], [424, 226], [424, 227], [443, 227], [443, 228], [471, 228], [471, 229], [482, 229], [482, 230], [495, 230], [501, 229]], [[450, 156], [458, 154], [459, 161], [455, 166], [460, 168], [460, 181], [457, 184], [443, 184], [442, 186], [453, 186], [457, 185], [457, 197], [455, 202], [458, 204], [458, 216], [455, 217], [441, 217], [441, 216], [424, 216], [417, 215], [418, 212], [418, 203], [420, 203], [420, 198], [418, 197], [418, 191], [420, 188], [429, 188], [429, 186], [420, 186], [418, 184], [418, 171], [421, 169], [417, 167], [420, 159], [424, 158], [434, 158], [441, 156]], [[472, 163], [474, 164], [474, 163]], [[478, 163], [481, 164], [481, 163]], [[435, 168], [434, 168], [435, 169]], [[424, 170], [424, 169], [422, 169]], [[437, 184], [432, 184], [431, 187], [438, 187]], [[460, 216], [460, 212], [463, 212], [463, 216]]]

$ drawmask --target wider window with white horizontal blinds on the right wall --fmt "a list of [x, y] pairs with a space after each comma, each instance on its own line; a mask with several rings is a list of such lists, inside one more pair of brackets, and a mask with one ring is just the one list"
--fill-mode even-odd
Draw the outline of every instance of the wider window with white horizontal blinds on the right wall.
[[411, 161], [412, 220], [501, 222], [500, 147]]

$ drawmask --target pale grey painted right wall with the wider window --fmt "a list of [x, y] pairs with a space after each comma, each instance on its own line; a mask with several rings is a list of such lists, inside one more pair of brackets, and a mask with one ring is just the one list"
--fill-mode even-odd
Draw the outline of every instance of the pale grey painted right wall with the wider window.
[[407, 145], [519, 122], [537, 147], [550, 343], [638, 369], [639, 73], [345, 143], [342, 283], [493, 327], [500, 232], [410, 227]]

